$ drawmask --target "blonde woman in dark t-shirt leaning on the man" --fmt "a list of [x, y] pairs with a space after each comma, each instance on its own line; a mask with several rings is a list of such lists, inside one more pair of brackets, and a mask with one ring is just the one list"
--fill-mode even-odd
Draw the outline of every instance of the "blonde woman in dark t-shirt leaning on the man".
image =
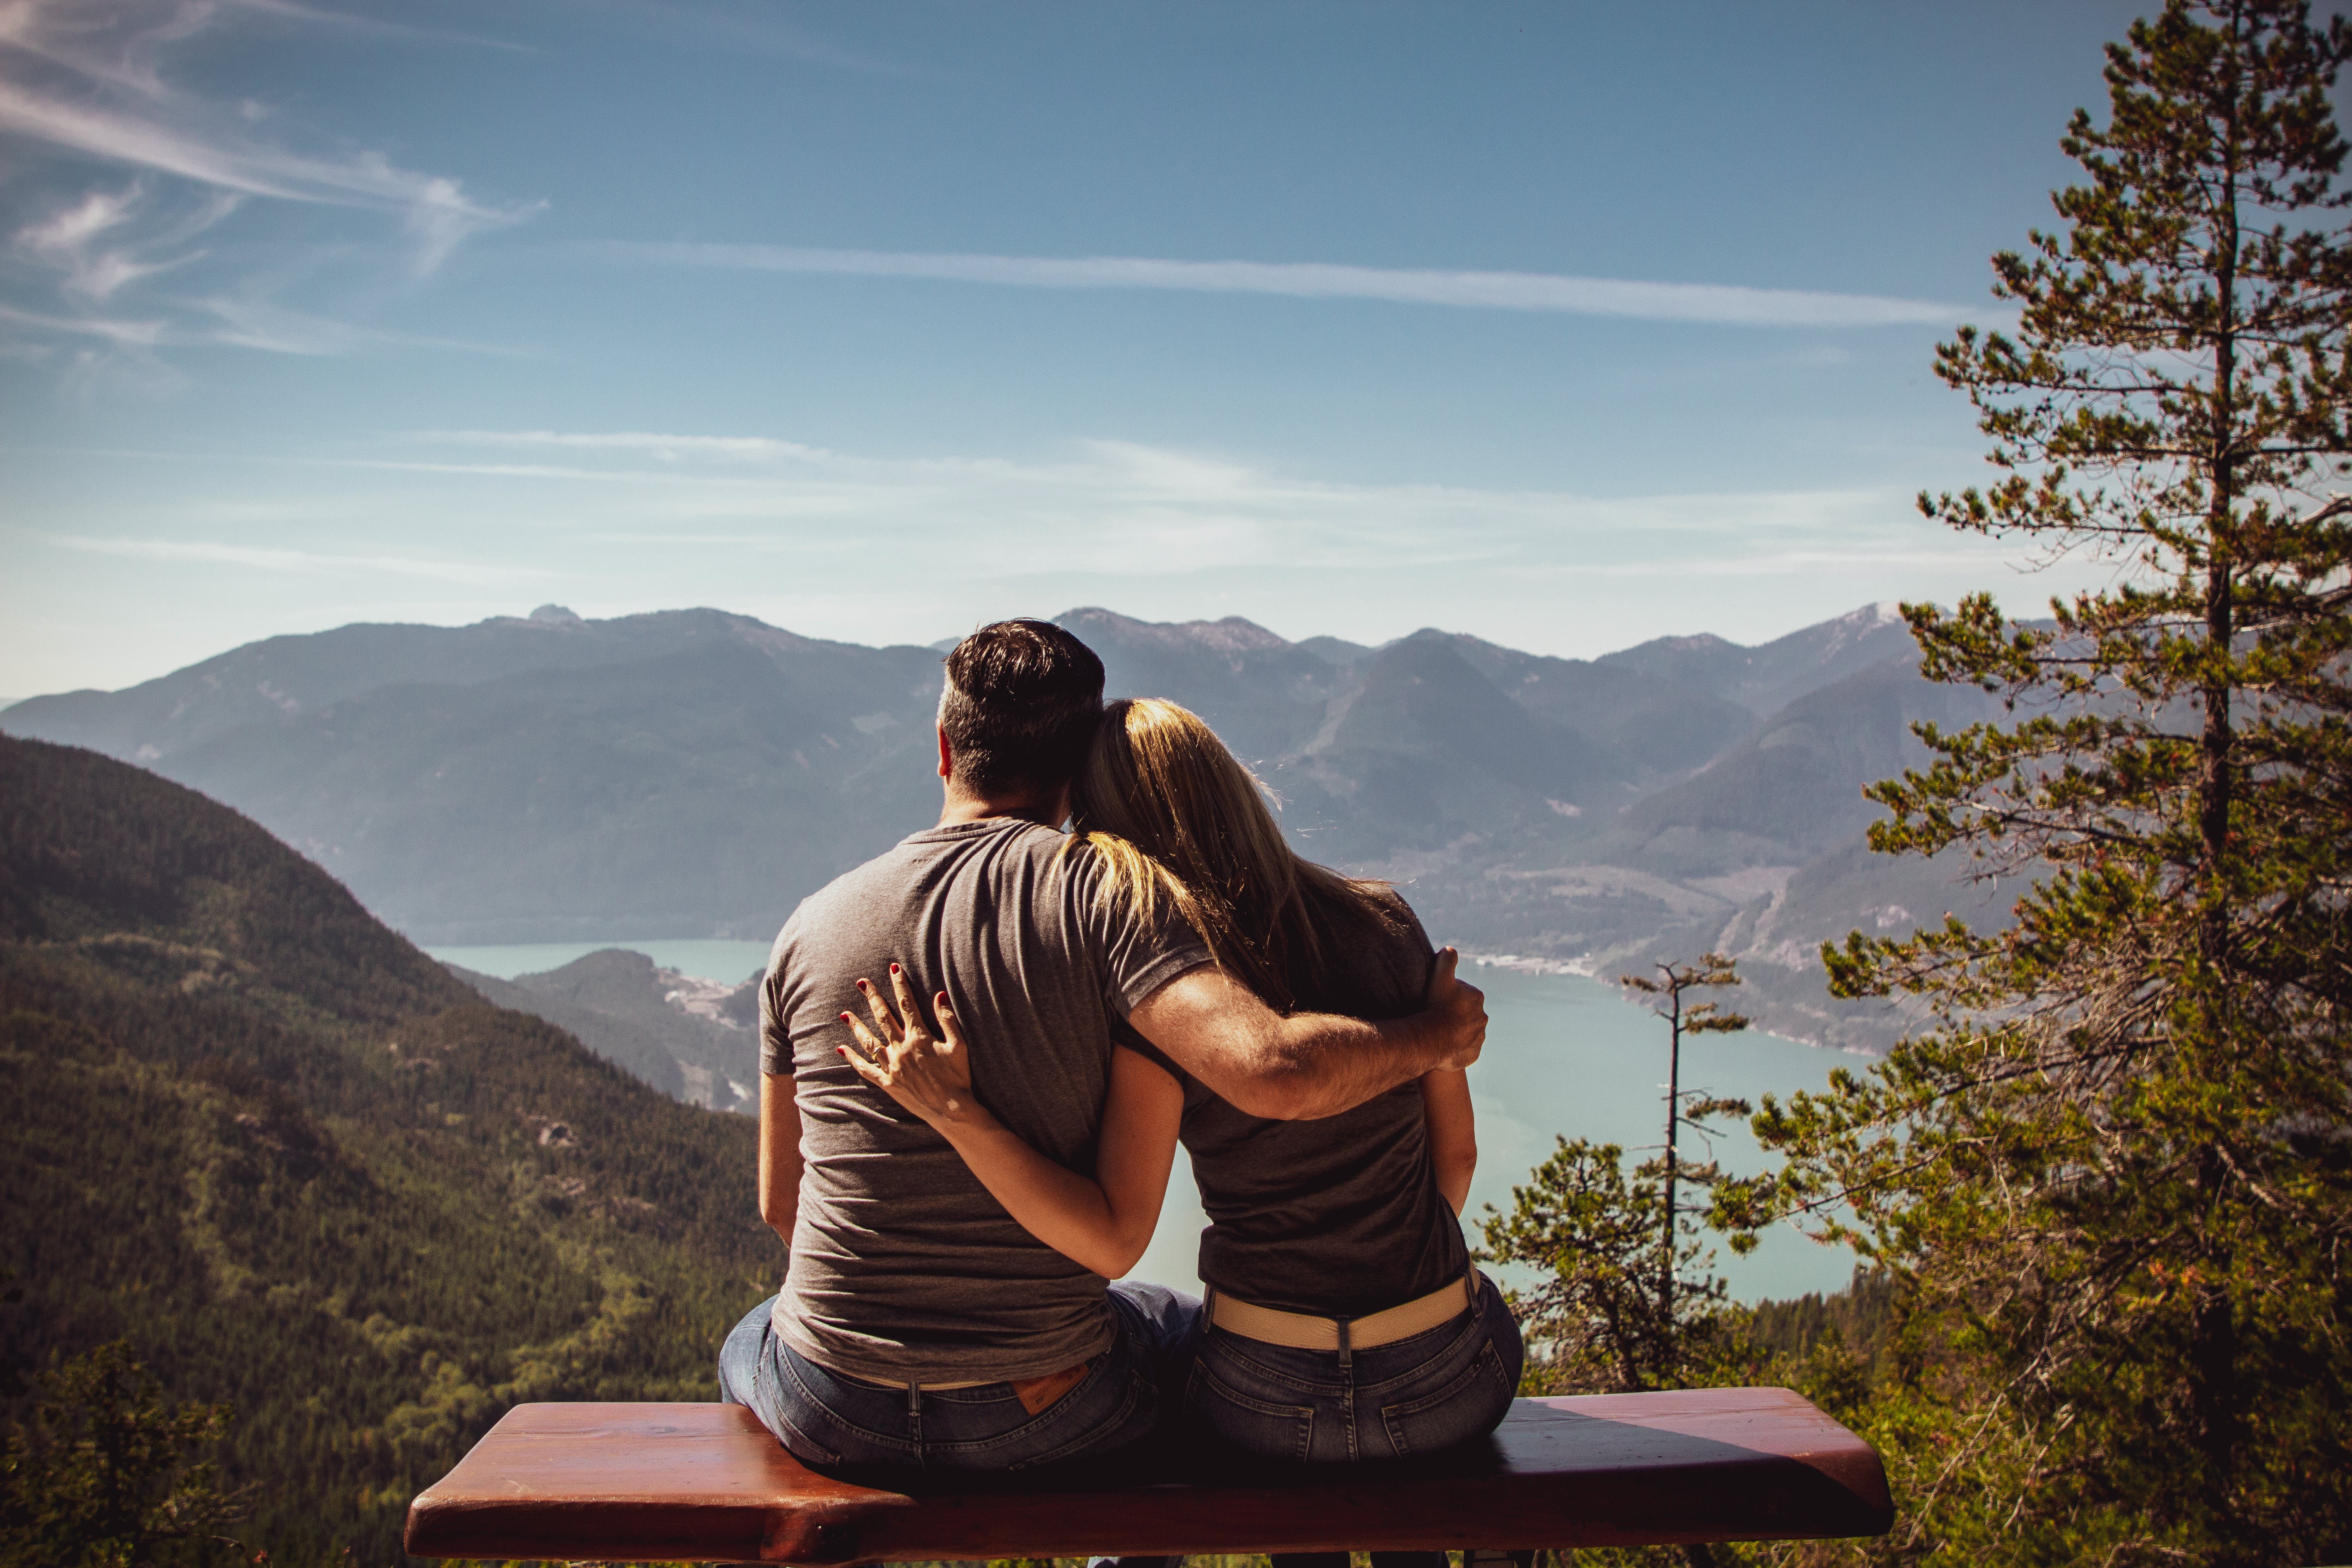
[[[1291, 853], [1258, 780], [1176, 703], [1110, 705], [1073, 830], [1068, 853], [1110, 872], [1101, 896], [1174, 907], [1270, 1006], [1421, 1006], [1432, 952], [1404, 900]], [[1456, 1218], [1477, 1164], [1465, 1074], [1432, 1072], [1341, 1117], [1265, 1121], [1127, 1037], [1087, 1180], [971, 1100], [946, 992], [934, 1044], [903, 978], [898, 1013], [861, 990], [880, 1037], [851, 1018], [868, 1056], [844, 1051], [851, 1065], [938, 1128], [1040, 1241], [1105, 1276], [1143, 1255], [1181, 1133], [1211, 1220], [1207, 1333], [1185, 1385], [1207, 1434], [1270, 1460], [1402, 1458], [1491, 1432], [1510, 1408], [1519, 1333]]]

